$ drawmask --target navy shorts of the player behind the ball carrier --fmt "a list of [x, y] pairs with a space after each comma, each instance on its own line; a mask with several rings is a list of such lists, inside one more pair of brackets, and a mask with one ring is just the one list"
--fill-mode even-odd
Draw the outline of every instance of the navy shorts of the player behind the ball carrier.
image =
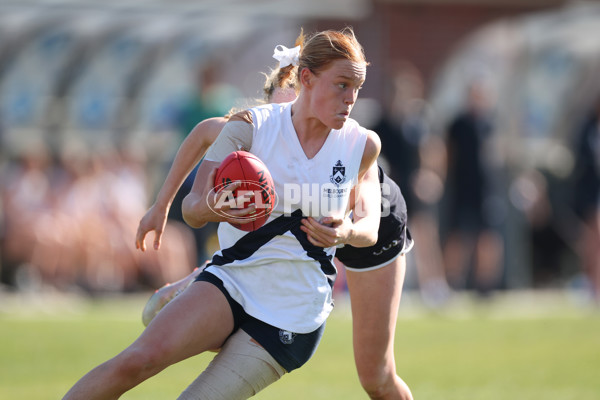
[[344, 246], [335, 256], [350, 270], [376, 269], [408, 252], [413, 240], [407, 227], [406, 201], [400, 188], [379, 167], [381, 220], [377, 243], [370, 247]]

